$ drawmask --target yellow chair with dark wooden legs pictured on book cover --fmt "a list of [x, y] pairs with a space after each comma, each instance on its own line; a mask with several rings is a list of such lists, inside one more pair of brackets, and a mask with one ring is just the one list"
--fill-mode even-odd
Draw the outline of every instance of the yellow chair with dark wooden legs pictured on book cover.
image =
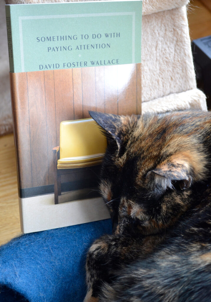
[[60, 145], [53, 148], [55, 204], [61, 195], [61, 175], [100, 165], [106, 147], [106, 137], [92, 118], [61, 122]]

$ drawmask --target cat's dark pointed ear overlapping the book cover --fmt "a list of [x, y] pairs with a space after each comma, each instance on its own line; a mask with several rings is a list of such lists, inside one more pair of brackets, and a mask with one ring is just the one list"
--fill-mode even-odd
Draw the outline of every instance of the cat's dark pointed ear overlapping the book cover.
[[122, 128], [123, 128], [123, 116], [101, 113], [96, 111], [89, 111], [91, 117], [105, 130], [105, 135], [109, 139], [112, 137], [118, 147], [118, 151], [122, 142]]

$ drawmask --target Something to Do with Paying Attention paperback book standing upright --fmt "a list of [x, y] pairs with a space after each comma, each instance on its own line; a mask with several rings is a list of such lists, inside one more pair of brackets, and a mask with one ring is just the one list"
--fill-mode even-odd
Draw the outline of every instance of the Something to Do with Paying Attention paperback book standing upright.
[[[81, 153], [93, 126], [86, 119], [89, 110], [141, 113], [142, 1], [5, 7], [21, 230], [109, 218], [98, 192], [103, 149], [86, 159]], [[60, 175], [61, 125], [81, 120], [76, 165]]]

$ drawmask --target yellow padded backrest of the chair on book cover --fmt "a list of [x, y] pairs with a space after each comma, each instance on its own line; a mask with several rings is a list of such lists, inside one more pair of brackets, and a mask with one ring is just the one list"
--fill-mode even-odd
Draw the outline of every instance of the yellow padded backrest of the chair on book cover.
[[60, 158], [105, 153], [106, 137], [92, 118], [60, 124]]

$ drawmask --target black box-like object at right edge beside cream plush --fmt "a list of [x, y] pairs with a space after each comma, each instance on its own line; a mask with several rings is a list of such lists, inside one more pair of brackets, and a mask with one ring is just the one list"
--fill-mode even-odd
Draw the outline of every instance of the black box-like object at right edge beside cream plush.
[[207, 106], [211, 109], [211, 36], [193, 40], [191, 47], [197, 86], [206, 94]]

